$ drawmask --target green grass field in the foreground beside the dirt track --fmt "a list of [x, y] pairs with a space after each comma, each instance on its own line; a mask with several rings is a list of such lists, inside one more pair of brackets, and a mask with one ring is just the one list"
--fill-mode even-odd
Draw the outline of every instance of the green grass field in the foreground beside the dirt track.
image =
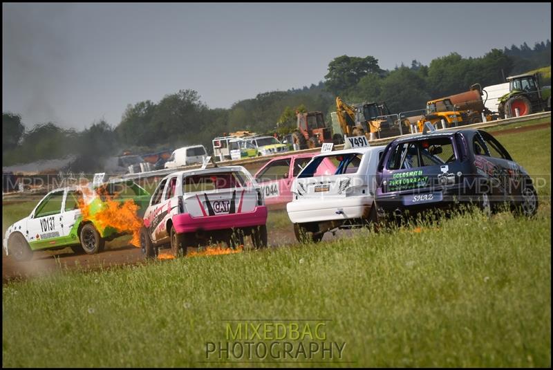
[[[473, 212], [317, 245], [5, 284], [3, 366], [328, 366], [315, 362], [328, 361], [321, 353], [205, 362], [221, 361], [206, 357], [206, 342], [227, 342], [229, 320], [285, 319], [324, 322], [326, 342], [345, 342], [333, 367], [550, 367], [550, 132], [498, 136], [547, 178], [534, 219]], [[270, 225], [284, 227], [284, 215]]]

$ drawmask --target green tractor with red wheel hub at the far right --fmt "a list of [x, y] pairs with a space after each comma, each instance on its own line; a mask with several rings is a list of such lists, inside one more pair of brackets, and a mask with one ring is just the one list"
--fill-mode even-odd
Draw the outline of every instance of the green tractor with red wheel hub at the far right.
[[507, 77], [509, 93], [499, 98], [501, 118], [527, 115], [551, 110], [551, 86], [540, 87], [538, 73], [525, 73]]

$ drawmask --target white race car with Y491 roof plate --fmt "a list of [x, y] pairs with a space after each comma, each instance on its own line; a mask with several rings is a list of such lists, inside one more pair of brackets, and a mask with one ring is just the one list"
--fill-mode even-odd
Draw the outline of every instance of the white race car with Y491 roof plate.
[[[292, 202], [286, 205], [298, 241], [320, 241], [336, 228], [376, 221], [375, 173], [383, 152], [384, 146], [359, 147], [313, 157], [292, 183]], [[335, 173], [314, 176], [325, 158]]]

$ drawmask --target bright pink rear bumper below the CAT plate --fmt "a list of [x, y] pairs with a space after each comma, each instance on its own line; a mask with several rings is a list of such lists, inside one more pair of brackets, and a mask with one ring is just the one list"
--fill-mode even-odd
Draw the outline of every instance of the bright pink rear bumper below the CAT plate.
[[217, 216], [193, 217], [189, 213], [173, 216], [173, 226], [179, 234], [196, 232], [198, 230], [225, 230], [232, 228], [247, 228], [265, 225], [267, 222], [267, 207], [260, 205], [252, 212], [219, 214]]

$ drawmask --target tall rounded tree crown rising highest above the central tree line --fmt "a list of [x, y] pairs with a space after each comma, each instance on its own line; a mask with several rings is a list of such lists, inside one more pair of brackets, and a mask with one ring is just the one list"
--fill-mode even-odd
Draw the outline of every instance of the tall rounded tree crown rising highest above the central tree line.
[[325, 76], [325, 85], [328, 91], [339, 95], [352, 88], [369, 73], [382, 73], [378, 66], [378, 59], [371, 57], [348, 57], [341, 55], [328, 64], [328, 73]]

